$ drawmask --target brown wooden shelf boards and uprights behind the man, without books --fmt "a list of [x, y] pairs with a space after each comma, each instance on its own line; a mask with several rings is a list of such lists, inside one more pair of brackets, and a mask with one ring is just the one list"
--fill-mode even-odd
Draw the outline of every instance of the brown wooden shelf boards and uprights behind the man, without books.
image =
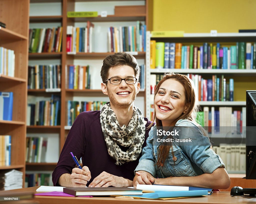
[[[102, 0], [101, 0], [102, 1]], [[122, 0], [121, 0], [122, 1]], [[145, 7], [147, 10], [148, 7], [148, 0], [145, 1]], [[80, 1], [80, 0], [30, 0], [30, 3], [44, 3], [44, 2], [49, 2], [49, 3], [61, 3], [61, 14], [60, 15], [47, 15], [46, 16], [30, 16], [29, 22], [30, 23], [38, 23], [37, 28], [40, 28], [40, 23], [61, 23], [61, 26], [63, 27], [63, 34], [62, 34], [62, 52], [58, 53], [28, 53], [28, 59], [29, 60], [39, 60], [40, 62], [42, 60], [60, 60], [61, 65], [62, 65], [62, 70], [61, 70], [61, 91], [60, 94], [61, 97], [61, 120], [60, 120], [60, 125], [58, 126], [27, 126], [27, 132], [28, 133], [58, 133], [59, 134], [59, 149], [61, 151], [65, 139], [67, 137], [67, 134], [69, 132], [69, 129], [65, 130], [65, 125], [66, 125], [66, 102], [67, 100], [72, 100], [74, 96], [90, 96], [90, 97], [106, 97], [102, 93], [100, 89], [85, 89], [85, 90], [73, 90], [73, 89], [68, 89], [66, 88], [66, 65], [74, 64], [75, 60], [103, 60], [106, 56], [114, 54], [111, 52], [93, 52], [93, 53], [66, 53], [66, 34], [67, 34], [67, 25], [75, 25], [78, 22], [84, 22], [86, 23], [88, 20], [91, 21], [92, 23], [94, 22], [104, 22], [107, 23], [109, 22], [109, 27], [112, 26], [113, 21], [119, 22], [120, 21], [145, 21], [145, 24], [147, 23], [147, 18], [148, 18], [148, 13], [143, 14], [143, 15], [137, 15], [137, 14], [132, 14], [132, 15], [127, 15], [127, 16], [117, 16], [117, 15], [108, 15], [107, 17], [95, 17], [95, 18], [67, 18], [67, 12], [68, 11], [74, 11], [75, 10], [75, 4], [77, 2], [94, 2], [94, 0], [85, 0], [85, 1]], [[102, 2], [108, 2], [103, 0]], [[111, 1], [112, 2], [112, 1]], [[114, 1], [118, 2], [118, 1]], [[113, 4], [113, 2], [112, 2]], [[124, 24], [124, 26], [126, 26]], [[51, 28], [51, 26], [49, 26]], [[103, 42], [101, 42], [103, 43]], [[107, 43], [107, 42], [104, 42]], [[145, 60], [146, 58], [146, 53], [145, 52], [131, 52], [132, 55], [134, 55], [137, 59]], [[41, 62], [42, 63], [42, 62]], [[95, 79], [92, 79], [95, 80]], [[101, 79], [97, 79], [99, 82]], [[34, 95], [34, 96], [50, 96], [51, 93], [46, 93], [45, 89], [33, 89], [33, 90], [28, 90], [27, 92], [28, 95]], [[138, 96], [142, 96], [145, 99], [145, 91], [141, 90], [138, 94]], [[144, 100], [145, 101], [145, 100]], [[57, 144], [56, 144], [57, 145]], [[53, 170], [56, 166], [56, 163], [26, 163], [26, 170], [33, 170], [33, 171], [38, 171], [42, 170]]]

